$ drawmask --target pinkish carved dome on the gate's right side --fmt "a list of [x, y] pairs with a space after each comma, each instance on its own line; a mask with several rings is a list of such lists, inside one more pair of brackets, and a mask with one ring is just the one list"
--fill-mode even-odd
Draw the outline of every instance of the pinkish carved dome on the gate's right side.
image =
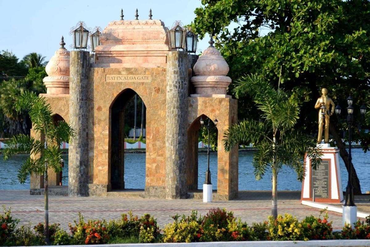
[[227, 87], [231, 83], [231, 78], [226, 76], [228, 72], [229, 66], [220, 52], [209, 46], [194, 65], [195, 76], [191, 78], [191, 82], [196, 94], [204, 97], [226, 95]]

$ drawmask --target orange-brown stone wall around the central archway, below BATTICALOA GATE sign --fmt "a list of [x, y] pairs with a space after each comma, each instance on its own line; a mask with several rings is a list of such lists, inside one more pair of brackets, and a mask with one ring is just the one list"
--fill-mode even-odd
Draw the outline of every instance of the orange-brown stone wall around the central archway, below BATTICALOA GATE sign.
[[[106, 75], [150, 75], [150, 81], [106, 81]], [[90, 69], [88, 103], [89, 194], [110, 190], [111, 107], [132, 89], [146, 107], [145, 197], [165, 197], [166, 68]], [[125, 119], [133, 121], [133, 119]], [[125, 163], [125, 167], [132, 166]]]

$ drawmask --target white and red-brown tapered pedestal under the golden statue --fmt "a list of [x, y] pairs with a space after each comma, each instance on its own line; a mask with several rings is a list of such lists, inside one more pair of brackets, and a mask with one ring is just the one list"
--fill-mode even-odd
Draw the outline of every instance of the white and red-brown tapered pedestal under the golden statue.
[[305, 178], [302, 181], [301, 201], [340, 203], [343, 201], [339, 170], [339, 149], [329, 144], [317, 144], [323, 153], [321, 164], [312, 169], [311, 159], [305, 155]]

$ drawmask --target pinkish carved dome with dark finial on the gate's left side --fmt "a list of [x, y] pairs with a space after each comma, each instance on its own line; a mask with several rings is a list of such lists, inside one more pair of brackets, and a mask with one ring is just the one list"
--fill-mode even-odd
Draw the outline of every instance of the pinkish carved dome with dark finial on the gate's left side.
[[63, 36], [60, 45], [45, 67], [47, 94], [69, 94], [70, 51], [64, 48]]

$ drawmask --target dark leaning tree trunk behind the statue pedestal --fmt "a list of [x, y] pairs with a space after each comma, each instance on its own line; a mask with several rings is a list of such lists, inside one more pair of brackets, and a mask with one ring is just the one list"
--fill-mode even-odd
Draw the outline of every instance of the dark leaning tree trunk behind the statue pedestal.
[[353, 193], [355, 195], [360, 195], [361, 194], [360, 180], [357, 177], [357, 173], [356, 173], [356, 170], [353, 167], [353, 163], [349, 164], [348, 153], [347, 153], [347, 150], [346, 150], [346, 146], [343, 143], [342, 138], [340, 138], [339, 134], [335, 130], [333, 123], [329, 124], [329, 130], [330, 130], [330, 134], [332, 134], [332, 136], [333, 136], [333, 138], [334, 138], [334, 140], [335, 140], [335, 142], [336, 142], [336, 144], [339, 148], [339, 154], [340, 154], [340, 157], [342, 157], [342, 159], [344, 161], [344, 164], [346, 165], [347, 172], [349, 172], [349, 167], [352, 170]]

